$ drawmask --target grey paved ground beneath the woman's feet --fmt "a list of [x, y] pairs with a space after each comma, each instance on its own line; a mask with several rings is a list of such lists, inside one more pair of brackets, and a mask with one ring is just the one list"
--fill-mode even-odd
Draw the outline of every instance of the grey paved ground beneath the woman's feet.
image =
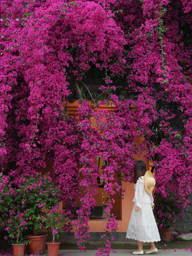
[[[136, 248], [137, 249], [137, 248]], [[189, 249], [189, 248], [188, 248]], [[58, 256], [94, 256], [97, 250], [86, 250], [86, 252], [80, 252], [79, 250], [59, 250], [59, 255]], [[133, 250], [116, 250], [116, 253], [113, 252], [113, 250], [110, 253], [110, 256], [114, 255], [114, 256], [127, 256], [127, 255], [131, 255], [131, 252]], [[145, 252], [146, 250], [144, 250]], [[48, 253], [46, 251], [46, 256], [48, 256]], [[147, 254], [143, 254], [143, 255], [147, 255]], [[184, 249], [178, 249], [176, 252], [173, 249], [170, 249], [170, 251], [168, 249], [166, 249], [166, 251], [164, 251], [163, 249], [158, 250], [157, 253], [153, 253], [151, 255], [168, 255], [168, 256], [182, 256], [182, 255], [191, 255], [192, 256], [192, 252], [190, 251], [185, 251]]]

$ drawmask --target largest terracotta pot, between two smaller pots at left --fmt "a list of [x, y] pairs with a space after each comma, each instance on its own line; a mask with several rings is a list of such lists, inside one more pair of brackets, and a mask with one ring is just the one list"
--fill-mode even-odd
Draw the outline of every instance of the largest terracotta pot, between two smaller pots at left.
[[37, 234], [37, 236], [28, 235], [27, 240], [31, 241], [27, 245], [29, 254], [45, 253], [47, 236], [47, 234]]

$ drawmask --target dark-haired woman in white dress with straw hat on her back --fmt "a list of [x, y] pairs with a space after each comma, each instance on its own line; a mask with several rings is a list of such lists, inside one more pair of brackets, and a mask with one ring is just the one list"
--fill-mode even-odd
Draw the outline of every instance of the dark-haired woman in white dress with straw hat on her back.
[[135, 203], [126, 238], [137, 240], [139, 249], [132, 252], [132, 254], [143, 254], [143, 242], [150, 243], [151, 248], [145, 254], [151, 254], [158, 251], [154, 242], [161, 239], [153, 215], [152, 191], [155, 186], [155, 179], [151, 172], [146, 172], [146, 164], [143, 161], [137, 161], [134, 166], [133, 182], [135, 183], [135, 196], [133, 199]]

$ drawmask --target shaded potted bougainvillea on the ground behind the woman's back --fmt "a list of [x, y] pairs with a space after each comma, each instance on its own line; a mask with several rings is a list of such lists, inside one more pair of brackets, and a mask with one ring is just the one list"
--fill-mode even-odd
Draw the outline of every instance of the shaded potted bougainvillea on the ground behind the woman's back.
[[160, 238], [162, 241], [170, 241], [172, 228], [182, 214], [182, 205], [177, 202], [174, 194], [171, 193], [166, 198], [162, 197], [160, 193], [155, 193], [154, 203], [154, 216]]

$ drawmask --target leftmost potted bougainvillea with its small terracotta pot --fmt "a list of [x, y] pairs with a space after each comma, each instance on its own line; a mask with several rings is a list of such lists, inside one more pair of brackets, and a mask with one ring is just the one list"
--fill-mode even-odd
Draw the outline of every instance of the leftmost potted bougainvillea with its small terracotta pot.
[[26, 213], [18, 189], [13, 188], [8, 176], [0, 176], [0, 223], [4, 239], [13, 243], [13, 255], [23, 256], [27, 241], [23, 233], [27, 229]]

